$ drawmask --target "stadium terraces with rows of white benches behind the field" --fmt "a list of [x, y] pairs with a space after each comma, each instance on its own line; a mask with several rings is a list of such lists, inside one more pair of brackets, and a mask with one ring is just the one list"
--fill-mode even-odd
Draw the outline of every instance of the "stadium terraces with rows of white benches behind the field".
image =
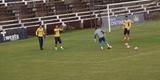
[[[12, 28], [45, 26], [69, 22], [83, 22], [107, 15], [107, 4], [110, 5], [111, 16], [149, 13], [159, 11], [159, 2], [141, 0], [116, 3], [116, 0], [82, 1], [80, 3], [66, 3], [61, 0], [5, 0], [0, 3], [0, 27], [7, 30]], [[117, 1], [118, 2], [118, 1]], [[100, 6], [93, 6], [100, 5]]]

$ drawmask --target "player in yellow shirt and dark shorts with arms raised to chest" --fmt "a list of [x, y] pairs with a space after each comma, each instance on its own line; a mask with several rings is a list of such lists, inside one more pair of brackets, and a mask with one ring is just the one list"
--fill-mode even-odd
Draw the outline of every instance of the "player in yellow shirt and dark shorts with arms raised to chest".
[[62, 40], [61, 40], [61, 31], [63, 31], [63, 28], [60, 28], [58, 25], [56, 25], [55, 29], [54, 29], [54, 39], [55, 39], [55, 50], [57, 50], [58, 48], [58, 43], [60, 44], [60, 48], [63, 50], [63, 46], [62, 46]]

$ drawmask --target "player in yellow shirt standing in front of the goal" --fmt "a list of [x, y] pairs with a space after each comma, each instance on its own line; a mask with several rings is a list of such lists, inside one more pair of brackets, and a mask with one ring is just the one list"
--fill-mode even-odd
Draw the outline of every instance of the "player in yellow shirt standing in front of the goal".
[[130, 40], [130, 28], [131, 28], [131, 21], [128, 19], [128, 16], [126, 16], [126, 19], [123, 22], [124, 25], [124, 39], [123, 41], [129, 41]]

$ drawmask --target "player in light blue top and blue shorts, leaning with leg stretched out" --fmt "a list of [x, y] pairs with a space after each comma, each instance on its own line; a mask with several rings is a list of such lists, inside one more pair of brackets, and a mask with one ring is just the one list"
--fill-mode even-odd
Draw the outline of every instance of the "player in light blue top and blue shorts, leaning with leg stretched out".
[[106, 33], [100, 28], [96, 28], [96, 31], [94, 32], [94, 41], [96, 42], [97, 41], [97, 37], [98, 37], [98, 40], [99, 40], [99, 45], [100, 45], [100, 49], [103, 50], [103, 42], [105, 43], [105, 45], [107, 46], [108, 49], [111, 49], [112, 46], [109, 45], [109, 43], [107, 42], [107, 40], [105, 39], [105, 35]]

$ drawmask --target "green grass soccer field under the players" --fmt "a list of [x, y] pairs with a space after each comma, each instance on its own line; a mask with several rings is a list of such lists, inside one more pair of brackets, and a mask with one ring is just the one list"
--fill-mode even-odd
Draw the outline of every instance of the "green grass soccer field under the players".
[[[99, 49], [94, 29], [66, 32], [64, 50], [54, 50], [47, 36], [44, 50], [37, 39], [0, 44], [0, 80], [160, 80], [160, 21], [146, 21], [131, 29], [127, 49], [123, 29], [107, 34], [112, 49]], [[138, 50], [133, 47], [138, 46]]]

